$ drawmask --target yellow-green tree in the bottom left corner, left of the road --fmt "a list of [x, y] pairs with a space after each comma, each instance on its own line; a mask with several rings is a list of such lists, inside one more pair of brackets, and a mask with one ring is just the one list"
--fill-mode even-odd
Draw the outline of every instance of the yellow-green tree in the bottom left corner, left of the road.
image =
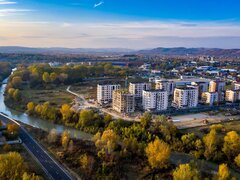
[[0, 179], [19, 179], [26, 170], [26, 164], [17, 152], [1, 154], [0, 170]]

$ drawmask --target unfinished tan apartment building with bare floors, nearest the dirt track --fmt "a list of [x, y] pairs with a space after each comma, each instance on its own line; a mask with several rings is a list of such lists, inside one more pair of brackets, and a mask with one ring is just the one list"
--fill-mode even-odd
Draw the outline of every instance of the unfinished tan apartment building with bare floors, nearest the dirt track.
[[133, 113], [135, 111], [135, 96], [126, 90], [113, 91], [112, 108], [119, 113]]

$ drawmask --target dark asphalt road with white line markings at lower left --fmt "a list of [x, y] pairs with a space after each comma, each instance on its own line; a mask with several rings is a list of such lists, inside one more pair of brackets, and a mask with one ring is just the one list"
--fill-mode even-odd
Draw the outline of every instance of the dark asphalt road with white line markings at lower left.
[[33, 155], [33, 157], [42, 166], [45, 173], [52, 180], [72, 180], [73, 178], [68, 174], [68, 172], [57, 163], [44, 148], [37, 143], [31, 135], [16, 121], [10, 119], [4, 114], [0, 113], [0, 119], [4, 123], [16, 123], [20, 126], [19, 138], [22, 140], [24, 147], [27, 151]]

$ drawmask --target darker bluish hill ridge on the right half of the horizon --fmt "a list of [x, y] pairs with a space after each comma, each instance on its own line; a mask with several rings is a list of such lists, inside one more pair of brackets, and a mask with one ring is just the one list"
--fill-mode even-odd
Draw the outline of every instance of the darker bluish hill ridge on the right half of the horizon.
[[223, 56], [223, 57], [240, 57], [240, 49], [218, 49], [218, 48], [155, 48], [151, 50], [141, 50], [138, 54], [145, 55], [206, 55], [206, 56]]

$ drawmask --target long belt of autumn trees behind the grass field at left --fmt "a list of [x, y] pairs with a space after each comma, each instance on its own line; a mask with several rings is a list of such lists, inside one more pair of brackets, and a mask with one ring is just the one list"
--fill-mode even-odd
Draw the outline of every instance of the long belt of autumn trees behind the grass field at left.
[[111, 63], [94, 65], [75, 65], [51, 67], [48, 64], [19, 65], [8, 83], [8, 88], [22, 88], [22, 82], [30, 88], [48, 87], [50, 85], [72, 84], [87, 78], [125, 77], [131, 72], [128, 68], [112, 66]]

